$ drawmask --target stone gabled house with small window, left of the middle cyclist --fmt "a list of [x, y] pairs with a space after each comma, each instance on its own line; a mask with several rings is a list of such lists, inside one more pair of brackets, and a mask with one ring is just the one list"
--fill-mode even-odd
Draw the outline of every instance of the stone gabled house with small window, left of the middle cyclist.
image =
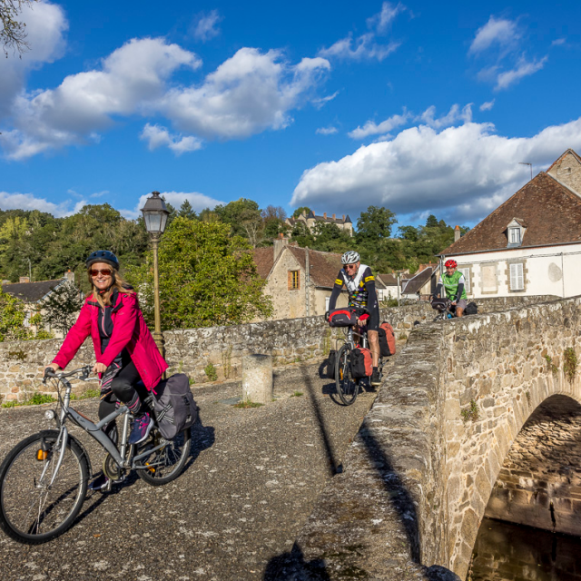
[[[329, 309], [330, 293], [341, 269], [341, 255], [300, 248], [286, 238], [273, 246], [254, 250], [254, 261], [271, 296], [272, 319], [295, 319], [323, 315]], [[343, 290], [337, 306], [347, 305]]]

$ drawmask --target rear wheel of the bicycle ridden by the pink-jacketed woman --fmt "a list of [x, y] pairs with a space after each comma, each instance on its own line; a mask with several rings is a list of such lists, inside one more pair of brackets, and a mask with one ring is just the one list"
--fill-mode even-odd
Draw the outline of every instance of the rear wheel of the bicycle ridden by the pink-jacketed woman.
[[[137, 453], [143, 454], [147, 448], [158, 446], [161, 441], [162, 435], [157, 428], [153, 428], [151, 437]], [[161, 487], [172, 482], [182, 474], [190, 456], [191, 446], [192, 434], [190, 428], [187, 428], [168, 441], [163, 448], [152, 452], [149, 458], [144, 458], [141, 463], [148, 468], [138, 469], [137, 474], [153, 487]]]

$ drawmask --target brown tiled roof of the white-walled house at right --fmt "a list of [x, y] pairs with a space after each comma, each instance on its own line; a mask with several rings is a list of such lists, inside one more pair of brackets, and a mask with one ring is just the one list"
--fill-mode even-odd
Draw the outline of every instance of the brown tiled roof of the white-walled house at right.
[[513, 218], [527, 228], [519, 248], [581, 242], [581, 197], [540, 172], [440, 254], [506, 250]]

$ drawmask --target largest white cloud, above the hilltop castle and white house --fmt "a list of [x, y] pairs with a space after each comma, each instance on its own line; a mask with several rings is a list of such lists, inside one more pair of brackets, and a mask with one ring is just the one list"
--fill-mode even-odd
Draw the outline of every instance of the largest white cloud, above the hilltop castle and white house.
[[529, 138], [497, 135], [491, 123], [442, 131], [421, 125], [303, 172], [291, 206], [324, 207], [332, 200], [344, 212], [374, 204], [474, 223], [527, 182], [518, 162], [547, 169], [569, 147], [581, 148], [581, 118]]

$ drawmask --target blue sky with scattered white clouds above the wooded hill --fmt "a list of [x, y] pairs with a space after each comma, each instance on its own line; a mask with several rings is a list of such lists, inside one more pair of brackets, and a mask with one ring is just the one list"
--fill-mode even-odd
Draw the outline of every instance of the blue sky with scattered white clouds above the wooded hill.
[[581, 153], [577, 2], [35, 5], [0, 59], [0, 208], [147, 192], [473, 225]]

